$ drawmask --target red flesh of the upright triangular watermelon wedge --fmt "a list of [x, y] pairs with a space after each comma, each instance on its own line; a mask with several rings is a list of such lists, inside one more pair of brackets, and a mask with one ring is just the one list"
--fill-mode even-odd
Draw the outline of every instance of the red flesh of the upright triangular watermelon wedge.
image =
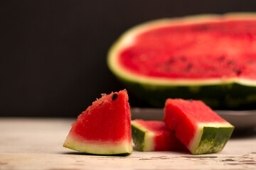
[[[126, 106], [123, 106], [122, 101], [120, 102], [120, 100], [126, 100], [126, 96], [123, 95], [120, 93], [115, 101], [112, 101], [111, 96], [103, 96], [100, 101], [96, 101], [94, 106], [79, 115], [79, 121], [73, 127], [77, 128], [76, 132], [79, 133], [80, 137], [100, 141], [122, 140], [127, 132], [126, 128], [129, 127], [125, 125], [128, 123], [122, 121], [129, 120], [129, 115], [122, 114], [122, 112], [128, 113], [127, 110], [129, 109], [127, 102], [125, 102]], [[88, 117], [97, 121], [90, 121]]]

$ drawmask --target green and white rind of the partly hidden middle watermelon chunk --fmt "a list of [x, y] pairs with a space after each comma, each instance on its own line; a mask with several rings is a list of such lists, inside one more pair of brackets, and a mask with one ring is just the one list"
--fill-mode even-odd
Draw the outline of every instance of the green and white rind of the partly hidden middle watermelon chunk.
[[132, 121], [132, 140], [138, 151], [154, 151], [154, 133]]

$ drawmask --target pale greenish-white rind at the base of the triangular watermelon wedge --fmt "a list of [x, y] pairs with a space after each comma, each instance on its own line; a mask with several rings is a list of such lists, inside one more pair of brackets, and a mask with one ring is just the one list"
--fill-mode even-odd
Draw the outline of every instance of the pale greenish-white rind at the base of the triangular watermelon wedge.
[[86, 141], [68, 135], [63, 147], [88, 154], [129, 154], [133, 151], [132, 141], [119, 142]]

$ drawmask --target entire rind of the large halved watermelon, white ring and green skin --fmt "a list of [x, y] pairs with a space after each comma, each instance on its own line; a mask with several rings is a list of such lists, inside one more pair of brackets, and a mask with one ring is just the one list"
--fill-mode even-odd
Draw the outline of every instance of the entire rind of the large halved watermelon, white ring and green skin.
[[137, 35], [161, 26], [186, 26], [190, 23], [203, 23], [234, 19], [255, 19], [255, 13], [226, 13], [225, 15], [202, 14], [180, 18], [163, 18], [142, 23], [127, 30], [114, 42], [107, 54], [107, 65], [111, 72], [127, 86], [129, 91], [148, 101], [151, 106], [163, 107], [166, 98], [193, 98], [204, 101], [212, 108], [245, 109], [256, 103], [256, 80], [233, 77], [228, 79], [166, 79], [134, 74], [122, 67], [117, 58], [119, 52], [132, 44]]

